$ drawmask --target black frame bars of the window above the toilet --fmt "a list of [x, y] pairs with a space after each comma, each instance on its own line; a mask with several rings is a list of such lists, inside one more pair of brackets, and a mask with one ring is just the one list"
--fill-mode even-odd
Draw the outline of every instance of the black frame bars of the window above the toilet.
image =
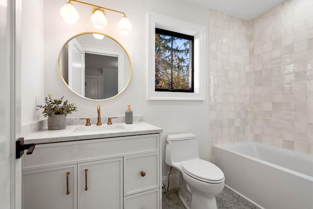
[[[189, 65], [190, 70], [191, 70], [191, 87], [189, 90], [173, 90], [173, 89], [157, 89], [155, 88], [156, 92], [183, 92], [183, 93], [194, 93], [194, 77], [195, 77], [195, 73], [194, 73], [194, 36], [190, 36], [190, 35], [186, 35], [186, 34], [182, 34], [182, 33], [178, 33], [178, 32], [174, 32], [174, 31], [169, 31], [169, 30], [164, 30], [161, 28], [156, 28], [156, 34], [161, 34], [161, 35], [166, 35], [166, 36], [172, 36], [172, 37], [176, 37], [176, 38], [181, 38], [181, 39], [185, 39], [185, 40], [189, 40], [191, 42], [190, 44], [190, 48], [189, 48], [189, 53], [190, 53], [190, 62]], [[173, 66], [173, 61], [172, 61], [172, 65]], [[156, 70], [156, 69], [155, 69]], [[171, 69], [172, 72], [172, 82], [171, 82], [171, 86], [173, 87], [173, 67]], [[156, 82], [156, 81], [155, 81]], [[156, 83], [155, 83], [155, 87], [156, 87]]]

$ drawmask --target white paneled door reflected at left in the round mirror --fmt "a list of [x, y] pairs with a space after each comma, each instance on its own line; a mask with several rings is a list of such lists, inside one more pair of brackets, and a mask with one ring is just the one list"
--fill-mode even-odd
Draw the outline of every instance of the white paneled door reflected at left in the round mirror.
[[68, 86], [85, 96], [85, 50], [76, 39], [68, 42]]

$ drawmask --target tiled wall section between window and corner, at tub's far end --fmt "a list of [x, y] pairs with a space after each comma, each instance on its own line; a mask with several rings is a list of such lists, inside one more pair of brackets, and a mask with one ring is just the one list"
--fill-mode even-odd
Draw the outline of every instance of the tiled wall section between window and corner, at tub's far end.
[[210, 10], [210, 139], [215, 144], [247, 139], [249, 23]]

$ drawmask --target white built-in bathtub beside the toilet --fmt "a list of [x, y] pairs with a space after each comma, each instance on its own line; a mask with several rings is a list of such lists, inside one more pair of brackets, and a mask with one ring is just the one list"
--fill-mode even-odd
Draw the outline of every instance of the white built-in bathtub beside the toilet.
[[245, 141], [214, 146], [225, 185], [264, 209], [313, 209], [313, 156]]

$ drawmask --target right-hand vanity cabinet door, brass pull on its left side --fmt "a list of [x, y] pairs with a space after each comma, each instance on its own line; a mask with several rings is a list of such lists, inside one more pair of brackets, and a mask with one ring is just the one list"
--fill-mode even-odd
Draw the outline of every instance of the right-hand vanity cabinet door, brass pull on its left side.
[[123, 208], [123, 158], [78, 164], [78, 209]]

